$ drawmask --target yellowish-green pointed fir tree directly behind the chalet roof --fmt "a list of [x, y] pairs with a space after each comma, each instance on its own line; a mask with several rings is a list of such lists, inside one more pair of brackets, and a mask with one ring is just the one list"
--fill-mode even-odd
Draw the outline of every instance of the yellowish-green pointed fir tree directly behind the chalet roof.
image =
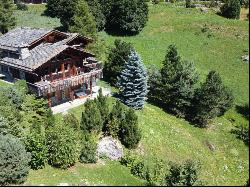
[[74, 16], [69, 22], [69, 31], [80, 33], [82, 36], [96, 37], [96, 23], [85, 0], [78, 1]]

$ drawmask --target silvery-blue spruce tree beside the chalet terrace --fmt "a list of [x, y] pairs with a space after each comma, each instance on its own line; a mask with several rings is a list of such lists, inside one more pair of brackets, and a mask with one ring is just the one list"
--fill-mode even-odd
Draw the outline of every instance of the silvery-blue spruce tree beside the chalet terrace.
[[147, 71], [139, 54], [132, 50], [118, 77], [120, 98], [127, 106], [142, 109], [148, 93]]

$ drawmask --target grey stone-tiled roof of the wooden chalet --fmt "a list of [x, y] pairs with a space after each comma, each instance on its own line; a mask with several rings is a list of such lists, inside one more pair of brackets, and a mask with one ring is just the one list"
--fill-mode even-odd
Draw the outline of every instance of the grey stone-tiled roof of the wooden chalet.
[[[54, 31], [59, 32], [51, 29], [33, 29], [28, 27], [17, 28], [0, 37], [0, 49], [17, 51], [18, 48], [27, 48], [33, 42]], [[67, 36], [66, 39], [56, 43], [41, 43], [40, 45], [29, 50], [29, 56], [27, 58], [16, 59], [14, 57], [4, 57], [0, 59], [0, 64], [6, 64], [26, 71], [33, 71], [68, 48], [78, 50], [67, 45], [67, 43], [72, 39], [79, 37], [79, 34], [63, 34]], [[86, 37], [85, 39], [91, 40]], [[81, 52], [88, 53], [82, 50]], [[89, 56], [94, 56], [91, 53], [88, 54]]]

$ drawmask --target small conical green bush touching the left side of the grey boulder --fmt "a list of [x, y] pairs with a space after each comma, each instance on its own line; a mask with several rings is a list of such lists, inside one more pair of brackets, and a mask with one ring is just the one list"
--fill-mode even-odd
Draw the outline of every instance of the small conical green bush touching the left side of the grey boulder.
[[86, 134], [82, 141], [82, 149], [79, 158], [80, 162], [96, 163], [97, 162], [96, 149], [97, 149], [97, 143], [95, 139], [91, 135]]

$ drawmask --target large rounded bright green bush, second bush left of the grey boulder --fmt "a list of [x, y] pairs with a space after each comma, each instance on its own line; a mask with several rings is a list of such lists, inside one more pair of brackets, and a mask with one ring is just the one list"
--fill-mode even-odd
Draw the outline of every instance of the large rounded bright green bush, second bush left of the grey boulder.
[[49, 164], [67, 168], [74, 165], [79, 157], [77, 132], [73, 128], [56, 124], [46, 133]]

